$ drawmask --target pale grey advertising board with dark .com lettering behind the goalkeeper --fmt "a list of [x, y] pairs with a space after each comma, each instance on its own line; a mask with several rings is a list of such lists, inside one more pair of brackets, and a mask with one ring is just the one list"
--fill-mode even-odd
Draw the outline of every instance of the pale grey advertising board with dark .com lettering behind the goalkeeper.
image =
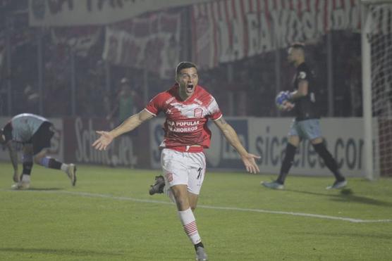
[[[287, 144], [290, 118], [250, 118], [248, 120], [250, 151], [261, 155], [260, 170], [277, 174], [283, 161]], [[322, 118], [321, 135], [345, 176], [363, 177], [363, 120], [362, 118]], [[293, 174], [332, 175], [310, 141], [302, 141], [295, 155]]]

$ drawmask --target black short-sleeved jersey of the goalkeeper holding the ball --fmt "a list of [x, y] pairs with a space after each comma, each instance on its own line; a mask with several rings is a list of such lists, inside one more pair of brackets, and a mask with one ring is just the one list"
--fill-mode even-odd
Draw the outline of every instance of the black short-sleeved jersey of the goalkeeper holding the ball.
[[306, 63], [301, 63], [297, 68], [297, 72], [293, 79], [294, 90], [298, 90], [298, 84], [301, 80], [306, 80], [308, 82], [307, 96], [296, 98], [294, 100], [295, 120], [317, 119], [320, 115], [316, 104], [314, 74], [307, 67]]

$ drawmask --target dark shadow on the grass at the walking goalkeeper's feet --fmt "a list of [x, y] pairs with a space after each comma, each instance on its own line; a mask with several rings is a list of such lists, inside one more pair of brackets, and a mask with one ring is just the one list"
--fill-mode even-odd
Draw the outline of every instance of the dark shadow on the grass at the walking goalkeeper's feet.
[[304, 193], [316, 196], [329, 196], [331, 200], [341, 201], [341, 202], [355, 202], [355, 203], [363, 203], [369, 205], [379, 205], [382, 207], [392, 208], [392, 203], [382, 200], [376, 200], [374, 198], [367, 198], [364, 196], [356, 196], [351, 189], [343, 189], [339, 194], [329, 194], [329, 193], [316, 193], [310, 191], [298, 191], [293, 189], [286, 189], [286, 191], [296, 192], [296, 193]]

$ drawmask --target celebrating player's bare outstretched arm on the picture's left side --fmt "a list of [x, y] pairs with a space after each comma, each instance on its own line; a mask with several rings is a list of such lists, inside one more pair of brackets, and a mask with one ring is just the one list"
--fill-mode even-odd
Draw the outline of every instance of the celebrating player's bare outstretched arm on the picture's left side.
[[151, 119], [152, 117], [154, 117], [154, 115], [147, 112], [147, 110], [142, 110], [140, 111], [140, 113], [136, 113], [135, 115], [128, 117], [128, 119], [124, 120], [121, 125], [119, 125], [115, 129], [112, 129], [110, 132], [97, 131], [97, 134], [100, 134], [101, 136], [99, 136], [99, 138], [94, 141], [92, 146], [99, 151], [106, 150], [107, 146], [111, 144], [111, 141], [113, 141], [114, 138], [120, 136], [121, 134], [124, 134], [125, 132], [132, 131], [133, 129], [141, 125], [143, 122]]

